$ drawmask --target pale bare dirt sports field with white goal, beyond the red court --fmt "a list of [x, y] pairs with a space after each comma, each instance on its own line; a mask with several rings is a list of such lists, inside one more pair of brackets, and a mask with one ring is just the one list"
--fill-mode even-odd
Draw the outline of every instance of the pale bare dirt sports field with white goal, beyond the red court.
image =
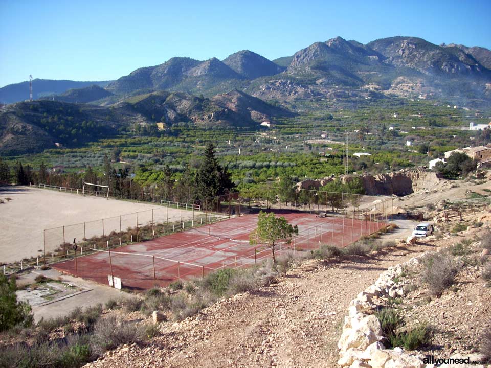
[[[10, 199], [6, 199], [10, 198]], [[62, 193], [30, 187], [0, 187], [0, 262], [42, 255], [43, 229], [161, 209], [159, 205]], [[191, 211], [168, 210], [169, 221]], [[57, 244], [59, 245], [59, 244]], [[41, 250], [41, 251], [39, 251]], [[54, 250], [50, 244], [46, 251]]]

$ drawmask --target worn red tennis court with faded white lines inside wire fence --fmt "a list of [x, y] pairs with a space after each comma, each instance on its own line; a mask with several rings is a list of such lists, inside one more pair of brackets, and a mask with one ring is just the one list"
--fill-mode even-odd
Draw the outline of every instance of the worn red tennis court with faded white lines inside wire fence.
[[[320, 244], [345, 247], [360, 236], [387, 226], [385, 222], [364, 219], [318, 217], [301, 212], [280, 214], [298, 225], [299, 235], [289, 246], [278, 246], [279, 256], [286, 250], [314, 250]], [[270, 258], [271, 249], [249, 244], [249, 234], [256, 226], [257, 214], [244, 215], [110, 251], [100, 250], [53, 267], [106, 285], [108, 275], [112, 274], [130, 289], [167, 286], [178, 279], [202, 277], [224, 267], [247, 267]]]

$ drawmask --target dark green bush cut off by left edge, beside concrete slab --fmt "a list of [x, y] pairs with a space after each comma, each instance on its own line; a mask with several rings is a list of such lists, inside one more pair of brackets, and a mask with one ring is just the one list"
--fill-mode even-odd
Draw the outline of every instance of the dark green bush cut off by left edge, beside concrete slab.
[[4, 274], [0, 274], [0, 332], [15, 325], [29, 327], [33, 323], [31, 306], [26, 302], [17, 302], [16, 290], [15, 279], [8, 280]]

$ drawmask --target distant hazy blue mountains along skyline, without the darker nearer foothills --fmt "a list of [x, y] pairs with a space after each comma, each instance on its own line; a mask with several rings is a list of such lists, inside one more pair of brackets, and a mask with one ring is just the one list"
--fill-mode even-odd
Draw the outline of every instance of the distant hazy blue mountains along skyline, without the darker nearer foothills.
[[[389, 37], [367, 44], [341, 37], [315, 42], [292, 56], [270, 61], [242, 50], [224, 60], [173, 57], [146, 66], [116, 81], [34, 80], [35, 98], [67, 102], [115, 103], [156, 90], [212, 97], [239, 89], [265, 100], [331, 98], [340, 91], [367, 91], [397, 96], [488, 99], [491, 51], [457, 44], [435, 45], [416, 37]], [[96, 84], [104, 88], [66, 92]], [[22, 91], [20, 93], [19, 91]], [[412, 91], [412, 92], [411, 92]], [[349, 95], [349, 94], [348, 94]], [[0, 102], [26, 100], [27, 82], [0, 88]]]

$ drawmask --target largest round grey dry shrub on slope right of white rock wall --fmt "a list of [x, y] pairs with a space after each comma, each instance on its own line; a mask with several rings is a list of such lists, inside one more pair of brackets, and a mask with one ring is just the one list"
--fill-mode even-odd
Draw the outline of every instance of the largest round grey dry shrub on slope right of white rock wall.
[[428, 285], [432, 295], [441, 295], [444, 289], [453, 285], [457, 267], [452, 257], [444, 253], [427, 256], [423, 261], [422, 281]]

